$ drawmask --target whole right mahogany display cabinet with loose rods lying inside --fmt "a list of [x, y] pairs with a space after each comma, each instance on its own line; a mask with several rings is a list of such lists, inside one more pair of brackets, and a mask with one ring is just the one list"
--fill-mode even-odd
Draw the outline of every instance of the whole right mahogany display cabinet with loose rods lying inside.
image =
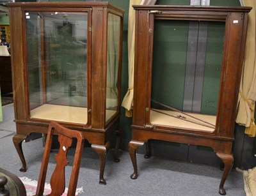
[[150, 156], [148, 140], [206, 146], [225, 164], [219, 191], [225, 195], [223, 185], [234, 161], [233, 132], [252, 8], [133, 7], [131, 178], [138, 177], [136, 149], [146, 144], [145, 157]]

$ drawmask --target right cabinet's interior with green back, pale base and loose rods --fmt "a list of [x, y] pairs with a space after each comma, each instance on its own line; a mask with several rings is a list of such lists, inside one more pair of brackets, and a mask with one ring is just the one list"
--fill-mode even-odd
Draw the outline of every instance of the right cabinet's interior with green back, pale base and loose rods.
[[[155, 20], [150, 123], [214, 132], [224, 31], [224, 22]], [[184, 103], [191, 103], [190, 111]]]

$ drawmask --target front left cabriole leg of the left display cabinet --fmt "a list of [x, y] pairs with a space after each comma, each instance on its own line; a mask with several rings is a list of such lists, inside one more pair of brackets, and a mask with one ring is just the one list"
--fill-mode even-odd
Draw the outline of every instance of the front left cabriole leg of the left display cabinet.
[[26, 139], [26, 137], [28, 137], [28, 135], [14, 135], [13, 136], [13, 144], [15, 146], [15, 149], [20, 157], [20, 161], [22, 162], [22, 168], [20, 168], [20, 172], [26, 172], [26, 160], [24, 158], [24, 154], [22, 151], [22, 141], [24, 139]]

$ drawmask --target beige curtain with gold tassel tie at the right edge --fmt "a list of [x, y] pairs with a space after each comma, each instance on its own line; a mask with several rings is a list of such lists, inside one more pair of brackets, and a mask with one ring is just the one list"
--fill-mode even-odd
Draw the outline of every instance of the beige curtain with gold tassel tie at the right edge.
[[244, 68], [240, 85], [237, 105], [236, 123], [246, 126], [245, 133], [250, 137], [256, 136], [254, 119], [256, 100], [256, 1], [241, 0], [242, 6], [252, 6], [248, 18], [248, 30], [244, 53]]

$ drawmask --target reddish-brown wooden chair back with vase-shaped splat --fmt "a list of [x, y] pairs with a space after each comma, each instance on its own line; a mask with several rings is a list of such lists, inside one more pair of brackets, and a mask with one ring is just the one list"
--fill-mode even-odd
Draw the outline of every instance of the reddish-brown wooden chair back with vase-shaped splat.
[[65, 191], [65, 167], [68, 164], [67, 150], [68, 150], [68, 147], [70, 147], [72, 144], [72, 139], [76, 138], [77, 139], [76, 153], [74, 155], [74, 163], [72, 167], [70, 183], [68, 186], [68, 194], [67, 194], [67, 195], [74, 196], [76, 193], [81, 156], [83, 153], [84, 138], [81, 132], [76, 130], [70, 130], [68, 128], [61, 126], [56, 122], [51, 122], [49, 124], [47, 139], [45, 143], [44, 156], [42, 159], [42, 165], [41, 165], [40, 174], [38, 178], [38, 185], [36, 188], [36, 195], [41, 196], [44, 193], [45, 177], [46, 177], [49, 157], [51, 153], [53, 133], [58, 134], [60, 149], [58, 154], [55, 155], [56, 167], [52, 172], [52, 176], [51, 176], [50, 185], [51, 185], [52, 192], [50, 195], [54, 195], [54, 196], [62, 195], [62, 193]]

